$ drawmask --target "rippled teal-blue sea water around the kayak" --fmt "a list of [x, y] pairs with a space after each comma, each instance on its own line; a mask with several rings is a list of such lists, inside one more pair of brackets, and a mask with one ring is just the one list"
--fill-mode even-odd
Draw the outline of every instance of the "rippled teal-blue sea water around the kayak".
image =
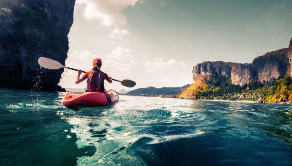
[[292, 165], [292, 105], [0, 93], [0, 165]]

